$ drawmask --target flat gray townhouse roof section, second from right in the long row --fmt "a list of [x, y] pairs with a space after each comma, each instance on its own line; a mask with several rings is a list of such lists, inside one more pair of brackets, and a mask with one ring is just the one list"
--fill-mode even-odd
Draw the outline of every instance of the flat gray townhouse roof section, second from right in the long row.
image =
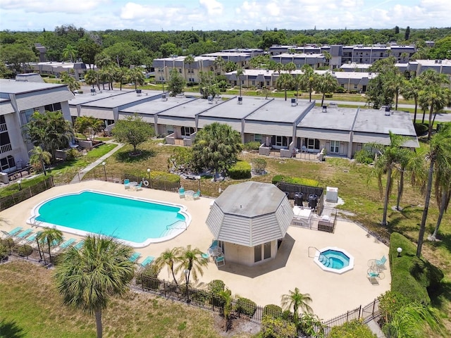
[[323, 113], [321, 107], [314, 107], [297, 127], [350, 131], [356, 115], [357, 108], [327, 108]]

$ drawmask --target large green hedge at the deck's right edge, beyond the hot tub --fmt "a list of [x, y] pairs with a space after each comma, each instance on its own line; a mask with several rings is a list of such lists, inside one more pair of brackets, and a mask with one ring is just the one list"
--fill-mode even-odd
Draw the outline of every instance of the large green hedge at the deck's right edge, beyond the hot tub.
[[[397, 248], [402, 248], [400, 257]], [[390, 266], [393, 292], [399, 292], [410, 301], [427, 305], [431, 302], [428, 289], [435, 289], [443, 279], [440, 269], [416, 256], [416, 245], [398, 232], [390, 236]]]

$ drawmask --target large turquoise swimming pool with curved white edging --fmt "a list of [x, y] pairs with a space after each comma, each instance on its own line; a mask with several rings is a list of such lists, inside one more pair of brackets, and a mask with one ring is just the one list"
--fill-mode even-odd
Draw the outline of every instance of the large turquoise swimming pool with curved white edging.
[[104, 234], [140, 248], [176, 237], [190, 225], [181, 204], [82, 190], [47, 199], [32, 209], [31, 225], [85, 236]]

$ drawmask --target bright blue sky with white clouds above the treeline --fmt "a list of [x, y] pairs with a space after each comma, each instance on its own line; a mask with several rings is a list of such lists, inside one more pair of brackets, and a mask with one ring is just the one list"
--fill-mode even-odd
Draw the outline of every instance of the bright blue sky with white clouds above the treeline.
[[451, 27], [450, 0], [1, 0], [0, 30]]

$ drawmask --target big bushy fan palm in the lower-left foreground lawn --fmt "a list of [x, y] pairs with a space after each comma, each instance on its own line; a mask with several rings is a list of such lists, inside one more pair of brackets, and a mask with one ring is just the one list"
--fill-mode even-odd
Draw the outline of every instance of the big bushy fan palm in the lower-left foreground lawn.
[[112, 296], [129, 291], [128, 283], [135, 275], [135, 263], [130, 261], [133, 249], [111, 237], [85, 237], [82, 248], [70, 247], [61, 253], [54, 280], [63, 303], [94, 314], [97, 338], [103, 327], [101, 312]]

